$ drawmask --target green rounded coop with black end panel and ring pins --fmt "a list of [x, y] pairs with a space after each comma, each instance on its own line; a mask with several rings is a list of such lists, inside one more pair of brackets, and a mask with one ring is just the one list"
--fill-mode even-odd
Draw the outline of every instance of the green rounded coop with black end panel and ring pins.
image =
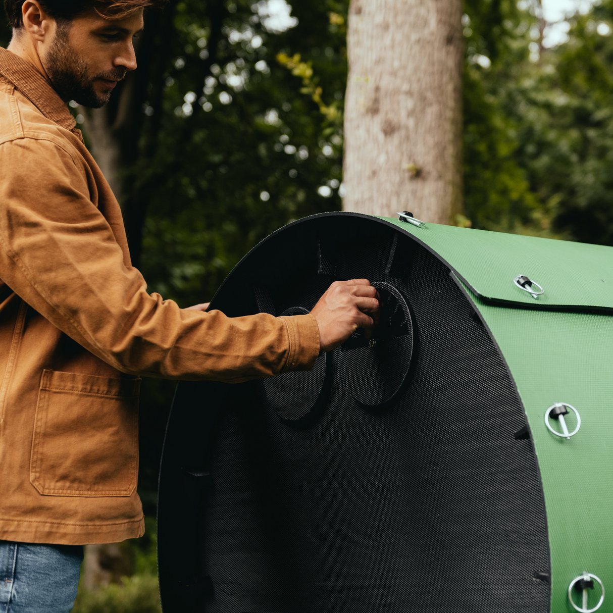
[[349, 278], [383, 296], [372, 339], [178, 386], [164, 611], [608, 610], [613, 249], [328, 213], [254, 248], [211, 307], [308, 313]]

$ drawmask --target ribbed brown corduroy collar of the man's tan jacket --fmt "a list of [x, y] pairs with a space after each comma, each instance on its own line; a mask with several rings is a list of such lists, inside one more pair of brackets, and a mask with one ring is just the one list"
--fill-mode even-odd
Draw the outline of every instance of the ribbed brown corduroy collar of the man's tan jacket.
[[7, 78], [51, 121], [67, 130], [76, 126], [74, 117], [50, 83], [27, 60], [0, 47], [0, 74]]

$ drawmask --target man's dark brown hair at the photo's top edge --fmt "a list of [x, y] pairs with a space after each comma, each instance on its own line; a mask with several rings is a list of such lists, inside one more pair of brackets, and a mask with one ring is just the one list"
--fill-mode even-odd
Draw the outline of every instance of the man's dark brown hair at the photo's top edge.
[[[21, 7], [24, 0], [4, 0], [4, 9], [13, 28], [21, 28]], [[39, 0], [42, 9], [56, 21], [69, 23], [77, 15], [96, 9], [107, 19], [121, 19], [134, 10], [148, 6], [162, 7], [166, 0]]]

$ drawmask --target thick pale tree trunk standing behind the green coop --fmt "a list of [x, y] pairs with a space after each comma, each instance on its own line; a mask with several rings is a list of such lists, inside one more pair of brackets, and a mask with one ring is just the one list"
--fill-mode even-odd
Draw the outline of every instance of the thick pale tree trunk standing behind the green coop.
[[461, 0], [351, 0], [345, 210], [459, 221], [461, 18]]

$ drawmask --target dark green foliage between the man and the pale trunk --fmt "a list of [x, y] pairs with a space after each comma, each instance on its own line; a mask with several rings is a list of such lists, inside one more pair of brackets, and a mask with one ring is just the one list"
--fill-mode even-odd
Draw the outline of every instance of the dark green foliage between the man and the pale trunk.
[[[273, 230], [341, 205], [347, 3], [295, 4], [297, 26], [279, 33], [252, 4], [176, 5], [156, 153], [135, 170], [149, 202], [143, 273], [185, 306]], [[296, 57], [308, 83], [277, 59]]]

